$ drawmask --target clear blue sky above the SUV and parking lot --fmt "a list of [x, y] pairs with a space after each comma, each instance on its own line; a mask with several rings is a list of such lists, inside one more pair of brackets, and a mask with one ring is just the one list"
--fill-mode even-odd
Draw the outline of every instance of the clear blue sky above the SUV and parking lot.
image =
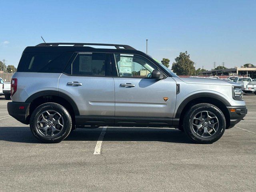
[[186, 50], [196, 68], [256, 64], [255, 0], [1, 1], [0, 60], [18, 65], [42, 42], [128, 44], [171, 63]]

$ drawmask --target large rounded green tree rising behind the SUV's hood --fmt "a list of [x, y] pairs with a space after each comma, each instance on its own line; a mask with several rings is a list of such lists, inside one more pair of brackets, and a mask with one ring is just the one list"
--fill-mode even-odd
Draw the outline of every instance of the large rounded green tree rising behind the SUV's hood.
[[176, 57], [175, 62], [172, 64], [172, 70], [177, 75], [194, 75], [196, 70], [194, 67], [194, 62], [190, 60], [190, 55], [188, 52], [180, 53]]

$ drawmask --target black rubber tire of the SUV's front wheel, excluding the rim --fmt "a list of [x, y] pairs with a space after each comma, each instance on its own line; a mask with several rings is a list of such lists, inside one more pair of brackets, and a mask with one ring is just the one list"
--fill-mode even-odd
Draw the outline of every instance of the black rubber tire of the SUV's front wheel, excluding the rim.
[[[191, 121], [194, 118], [194, 116], [201, 112], [201, 111], [210, 111], [216, 115], [219, 121], [219, 128], [213, 136], [210, 136], [208, 138], [202, 138], [200, 136], [197, 136], [196, 133], [191, 128]], [[188, 112], [187, 115], [185, 116], [184, 119], [184, 131], [186, 134], [189, 136], [190, 139], [199, 142], [199, 143], [213, 143], [217, 141], [218, 139], [221, 138], [221, 136], [224, 134], [224, 131], [226, 129], [226, 119], [222, 111], [217, 108], [214, 105], [211, 104], [199, 104], [193, 106]]]

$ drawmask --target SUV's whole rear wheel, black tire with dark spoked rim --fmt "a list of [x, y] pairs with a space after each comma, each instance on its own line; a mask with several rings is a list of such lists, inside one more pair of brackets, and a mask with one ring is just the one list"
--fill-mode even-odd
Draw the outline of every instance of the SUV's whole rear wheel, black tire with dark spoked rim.
[[38, 106], [30, 118], [30, 130], [44, 143], [58, 143], [64, 140], [72, 129], [72, 118], [63, 106], [45, 103]]

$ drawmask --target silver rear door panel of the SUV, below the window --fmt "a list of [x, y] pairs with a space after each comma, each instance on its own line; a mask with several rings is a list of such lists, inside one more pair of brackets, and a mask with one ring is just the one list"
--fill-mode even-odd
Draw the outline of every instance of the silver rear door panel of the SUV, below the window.
[[[68, 83], [74, 85], [68, 85]], [[74, 100], [80, 116], [114, 117], [114, 80], [112, 77], [62, 74], [58, 90]]]

